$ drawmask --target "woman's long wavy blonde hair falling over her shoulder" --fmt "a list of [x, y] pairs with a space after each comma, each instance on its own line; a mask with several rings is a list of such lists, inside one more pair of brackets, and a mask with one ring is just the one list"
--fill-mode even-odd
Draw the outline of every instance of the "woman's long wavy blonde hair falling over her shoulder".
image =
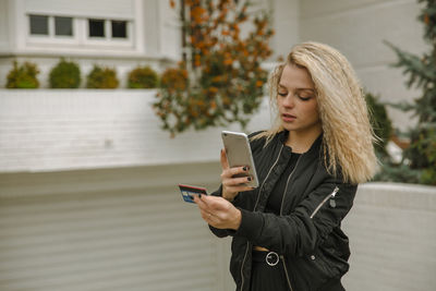
[[[269, 97], [277, 109], [277, 88], [284, 65], [305, 68], [315, 85], [323, 126], [324, 162], [327, 170], [341, 172], [344, 182], [363, 183], [376, 172], [378, 161], [373, 142], [377, 141], [359, 80], [349, 61], [338, 50], [318, 43], [303, 43], [292, 48], [287, 61], [270, 74]], [[279, 116], [271, 129], [254, 138], [283, 131]]]

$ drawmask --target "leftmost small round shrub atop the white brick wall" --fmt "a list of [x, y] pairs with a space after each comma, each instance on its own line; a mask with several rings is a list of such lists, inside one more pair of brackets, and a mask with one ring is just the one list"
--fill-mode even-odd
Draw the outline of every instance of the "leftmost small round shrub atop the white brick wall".
[[39, 70], [35, 63], [24, 62], [24, 64], [19, 65], [19, 63], [14, 61], [12, 70], [8, 73], [7, 88], [38, 88], [39, 81], [36, 76], [37, 74], [39, 74]]

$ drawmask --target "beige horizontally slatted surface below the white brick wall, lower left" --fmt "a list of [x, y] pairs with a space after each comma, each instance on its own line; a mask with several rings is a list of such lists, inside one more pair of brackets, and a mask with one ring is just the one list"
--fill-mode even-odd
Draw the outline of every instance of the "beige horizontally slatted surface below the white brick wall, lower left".
[[[221, 290], [218, 240], [194, 206], [174, 185], [148, 183], [150, 175], [129, 187], [119, 171], [118, 189], [105, 186], [117, 170], [96, 171], [77, 193], [74, 172], [56, 174], [70, 187], [64, 193], [33, 192], [23, 181], [27, 194], [8, 195], [13, 186], [0, 177], [0, 290]], [[39, 175], [35, 187], [47, 187], [50, 173]]]

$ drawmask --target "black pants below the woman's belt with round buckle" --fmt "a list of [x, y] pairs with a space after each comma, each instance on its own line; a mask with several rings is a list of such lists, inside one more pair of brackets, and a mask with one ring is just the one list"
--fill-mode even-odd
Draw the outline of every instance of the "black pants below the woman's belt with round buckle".
[[[280, 260], [276, 266], [265, 262], [267, 252], [253, 251], [251, 291], [289, 291], [288, 280]], [[293, 290], [304, 291], [304, 290]], [[340, 279], [335, 279], [324, 286], [319, 291], [346, 291]]]

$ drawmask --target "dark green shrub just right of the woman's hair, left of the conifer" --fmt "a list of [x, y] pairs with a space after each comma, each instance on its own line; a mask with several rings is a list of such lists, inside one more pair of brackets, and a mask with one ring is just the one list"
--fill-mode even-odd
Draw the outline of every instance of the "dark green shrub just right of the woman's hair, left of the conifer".
[[385, 105], [371, 93], [365, 94], [366, 104], [371, 116], [371, 125], [374, 133], [380, 138], [374, 148], [379, 156], [387, 156], [386, 146], [392, 135], [392, 122], [388, 117]]

